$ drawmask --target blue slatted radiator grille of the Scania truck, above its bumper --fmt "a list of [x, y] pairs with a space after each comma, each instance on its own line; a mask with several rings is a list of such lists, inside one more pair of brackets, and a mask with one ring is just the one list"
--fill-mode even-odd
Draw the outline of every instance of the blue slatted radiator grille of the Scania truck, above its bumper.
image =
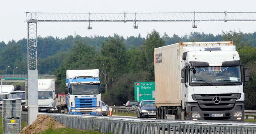
[[96, 98], [78, 98], [75, 99], [76, 108], [95, 108], [97, 105]]

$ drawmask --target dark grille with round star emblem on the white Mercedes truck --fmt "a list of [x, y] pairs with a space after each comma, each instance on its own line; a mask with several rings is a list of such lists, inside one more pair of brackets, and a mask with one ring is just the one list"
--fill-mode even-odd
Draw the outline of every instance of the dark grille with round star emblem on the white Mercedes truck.
[[232, 110], [238, 94], [195, 94], [202, 111]]

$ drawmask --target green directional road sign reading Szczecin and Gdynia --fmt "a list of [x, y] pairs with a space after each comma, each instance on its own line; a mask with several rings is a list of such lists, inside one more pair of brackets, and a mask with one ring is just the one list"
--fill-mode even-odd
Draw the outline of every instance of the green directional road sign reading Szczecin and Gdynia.
[[134, 99], [137, 101], [155, 100], [155, 82], [135, 82]]

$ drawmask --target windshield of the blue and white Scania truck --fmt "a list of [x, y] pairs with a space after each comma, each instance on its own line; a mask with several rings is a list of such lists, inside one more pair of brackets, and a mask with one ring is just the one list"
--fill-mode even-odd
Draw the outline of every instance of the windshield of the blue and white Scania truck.
[[100, 94], [99, 85], [71, 85], [72, 94]]

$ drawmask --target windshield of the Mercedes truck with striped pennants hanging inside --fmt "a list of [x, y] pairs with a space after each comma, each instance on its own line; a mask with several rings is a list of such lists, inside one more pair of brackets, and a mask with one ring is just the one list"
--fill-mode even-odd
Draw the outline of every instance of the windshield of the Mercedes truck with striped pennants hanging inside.
[[194, 72], [190, 71], [190, 83], [233, 84], [238, 82], [241, 82], [240, 66], [196, 67]]

